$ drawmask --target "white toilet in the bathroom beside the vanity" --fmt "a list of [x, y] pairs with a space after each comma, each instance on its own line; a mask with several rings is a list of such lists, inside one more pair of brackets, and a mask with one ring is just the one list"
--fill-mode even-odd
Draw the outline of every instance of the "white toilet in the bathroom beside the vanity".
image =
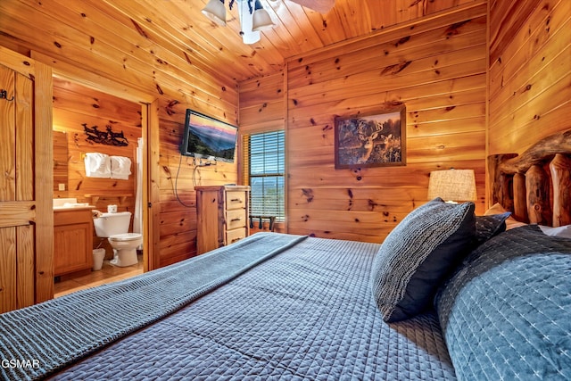
[[113, 248], [112, 265], [125, 267], [137, 264], [137, 247], [143, 244], [143, 236], [139, 233], [128, 233], [131, 222], [129, 211], [102, 213], [93, 220], [95, 235], [107, 238]]

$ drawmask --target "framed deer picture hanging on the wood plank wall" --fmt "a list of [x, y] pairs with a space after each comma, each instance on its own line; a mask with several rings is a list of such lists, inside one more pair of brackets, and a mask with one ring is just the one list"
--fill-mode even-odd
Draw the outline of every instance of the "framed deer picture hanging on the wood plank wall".
[[335, 118], [335, 169], [406, 165], [404, 104]]

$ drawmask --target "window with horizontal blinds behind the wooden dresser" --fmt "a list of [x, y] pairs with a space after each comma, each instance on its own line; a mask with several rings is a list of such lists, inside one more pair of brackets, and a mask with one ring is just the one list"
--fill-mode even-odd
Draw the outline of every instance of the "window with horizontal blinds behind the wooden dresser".
[[244, 184], [251, 187], [252, 216], [285, 220], [284, 131], [244, 137]]

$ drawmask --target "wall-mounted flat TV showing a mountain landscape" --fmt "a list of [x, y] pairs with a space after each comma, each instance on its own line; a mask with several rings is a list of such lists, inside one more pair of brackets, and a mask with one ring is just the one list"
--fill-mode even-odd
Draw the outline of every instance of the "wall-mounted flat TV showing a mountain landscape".
[[234, 162], [237, 132], [236, 126], [186, 109], [180, 153], [199, 159]]

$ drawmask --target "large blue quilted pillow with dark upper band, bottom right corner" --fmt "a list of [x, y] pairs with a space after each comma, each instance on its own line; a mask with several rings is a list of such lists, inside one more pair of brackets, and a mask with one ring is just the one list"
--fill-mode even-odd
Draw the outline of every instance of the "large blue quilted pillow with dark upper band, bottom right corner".
[[436, 304], [459, 379], [571, 379], [571, 240], [535, 226], [501, 233]]

